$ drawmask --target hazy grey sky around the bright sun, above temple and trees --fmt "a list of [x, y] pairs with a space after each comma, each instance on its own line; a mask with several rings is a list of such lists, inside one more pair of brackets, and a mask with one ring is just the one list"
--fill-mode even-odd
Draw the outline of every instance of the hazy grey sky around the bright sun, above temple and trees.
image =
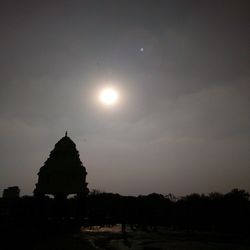
[[[90, 189], [250, 191], [249, 13], [240, 0], [0, 1], [1, 194], [32, 194], [65, 130]], [[96, 101], [107, 82], [111, 109]]]

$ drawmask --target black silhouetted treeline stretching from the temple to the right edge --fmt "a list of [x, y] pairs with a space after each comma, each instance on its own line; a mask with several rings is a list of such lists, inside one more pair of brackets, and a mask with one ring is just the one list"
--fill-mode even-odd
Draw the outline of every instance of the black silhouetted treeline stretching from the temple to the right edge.
[[92, 192], [88, 196], [89, 223], [119, 221], [145, 228], [211, 231], [250, 231], [249, 193], [191, 194], [181, 198], [152, 193], [138, 197]]

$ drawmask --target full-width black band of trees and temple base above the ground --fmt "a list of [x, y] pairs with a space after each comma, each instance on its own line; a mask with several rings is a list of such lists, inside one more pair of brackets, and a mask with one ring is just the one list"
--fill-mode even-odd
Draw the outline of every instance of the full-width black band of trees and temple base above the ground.
[[85, 198], [55, 200], [50, 197], [1, 198], [0, 224], [54, 225], [72, 221], [77, 226], [122, 223], [136, 228], [250, 232], [249, 193], [122, 196], [93, 190]]

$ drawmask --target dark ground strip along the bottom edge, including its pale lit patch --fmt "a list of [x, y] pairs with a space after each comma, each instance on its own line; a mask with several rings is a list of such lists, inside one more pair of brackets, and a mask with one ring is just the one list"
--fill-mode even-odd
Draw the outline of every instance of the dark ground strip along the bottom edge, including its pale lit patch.
[[[13, 230], [15, 231], [15, 230]], [[121, 226], [86, 227], [80, 232], [46, 234], [20, 231], [3, 239], [1, 249], [32, 250], [249, 250], [247, 234], [173, 231], [164, 227], [154, 230], [137, 228], [121, 233]]]

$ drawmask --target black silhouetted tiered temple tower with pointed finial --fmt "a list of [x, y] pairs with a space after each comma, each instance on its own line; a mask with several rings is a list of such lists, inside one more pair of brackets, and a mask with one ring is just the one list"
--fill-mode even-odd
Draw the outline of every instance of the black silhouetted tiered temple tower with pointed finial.
[[76, 145], [66, 132], [40, 168], [34, 195], [51, 194], [64, 198], [69, 194], [85, 196], [88, 193], [86, 175]]

